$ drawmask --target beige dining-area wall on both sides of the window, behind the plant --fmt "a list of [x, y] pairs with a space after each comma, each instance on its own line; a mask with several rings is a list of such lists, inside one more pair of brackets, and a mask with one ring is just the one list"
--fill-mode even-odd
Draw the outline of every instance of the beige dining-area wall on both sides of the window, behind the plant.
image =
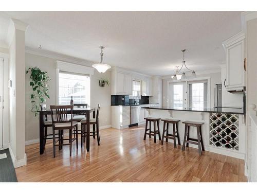
[[[56, 85], [56, 60], [53, 58], [47, 58], [43, 56], [38, 56], [34, 54], [25, 55], [26, 61], [26, 69], [29, 67], [37, 66], [42, 71], [47, 71], [51, 81], [49, 83], [49, 96], [50, 99], [46, 100], [47, 108], [49, 108], [50, 104], [56, 104], [57, 98], [57, 85]], [[70, 62], [70, 61], [69, 61]], [[111, 125], [111, 86], [100, 87], [98, 80], [102, 77], [106, 77], [111, 81], [111, 72], [107, 71], [104, 75], [101, 75], [96, 70], [94, 71], [94, 75], [91, 76], [91, 100], [90, 106], [97, 107], [97, 104], [101, 104], [100, 108], [100, 116], [99, 123], [100, 128], [103, 126]], [[31, 86], [29, 86], [29, 76], [26, 75], [26, 100], [25, 100], [25, 110], [26, 110], [26, 141], [38, 139], [39, 138], [39, 118], [34, 117], [34, 114], [30, 112], [31, 102], [30, 102], [30, 94], [31, 94]]]

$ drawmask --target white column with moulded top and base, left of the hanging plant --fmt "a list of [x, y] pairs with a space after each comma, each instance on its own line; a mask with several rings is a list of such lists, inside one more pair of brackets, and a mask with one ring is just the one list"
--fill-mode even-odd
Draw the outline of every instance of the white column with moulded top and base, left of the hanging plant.
[[26, 165], [25, 154], [25, 31], [27, 24], [11, 19], [9, 37], [9, 128], [14, 167]]

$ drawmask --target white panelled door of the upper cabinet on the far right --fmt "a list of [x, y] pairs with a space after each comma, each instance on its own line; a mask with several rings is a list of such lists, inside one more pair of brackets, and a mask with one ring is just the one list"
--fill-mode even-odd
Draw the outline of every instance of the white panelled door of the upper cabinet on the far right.
[[243, 89], [244, 72], [244, 40], [227, 48], [227, 90]]

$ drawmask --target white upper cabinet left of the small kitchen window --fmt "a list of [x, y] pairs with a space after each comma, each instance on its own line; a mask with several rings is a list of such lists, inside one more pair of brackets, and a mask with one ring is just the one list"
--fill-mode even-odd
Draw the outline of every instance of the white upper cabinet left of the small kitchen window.
[[111, 90], [112, 95], [132, 95], [132, 74], [113, 68]]

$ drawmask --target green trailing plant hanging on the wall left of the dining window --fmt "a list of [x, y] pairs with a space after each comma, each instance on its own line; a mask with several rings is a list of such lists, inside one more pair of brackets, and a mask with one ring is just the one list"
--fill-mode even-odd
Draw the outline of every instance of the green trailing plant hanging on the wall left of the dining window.
[[29, 85], [32, 87], [32, 94], [30, 95], [32, 107], [31, 112], [38, 115], [40, 105], [50, 98], [48, 95], [49, 87], [47, 83], [50, 81], [47, 72], [42, 72], [38, 67], [30, 67], [26, 74], [30, 72], [29, 78], [31, 81]]

